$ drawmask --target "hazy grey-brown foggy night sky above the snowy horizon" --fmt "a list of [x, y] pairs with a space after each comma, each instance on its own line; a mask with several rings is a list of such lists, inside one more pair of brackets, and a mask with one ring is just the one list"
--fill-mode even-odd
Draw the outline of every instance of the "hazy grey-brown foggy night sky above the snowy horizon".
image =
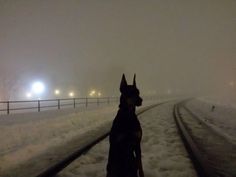
[[33, 80], [118, 95], [123, 73], [143, 95], [233, 94], [236, 1], [0, 0], [0, 99]]

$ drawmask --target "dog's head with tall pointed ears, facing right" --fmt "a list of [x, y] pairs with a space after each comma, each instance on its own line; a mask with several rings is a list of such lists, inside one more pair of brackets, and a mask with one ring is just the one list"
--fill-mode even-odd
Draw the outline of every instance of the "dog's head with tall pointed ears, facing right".
[[120, 83], [121, 105], [127, 105], [128, 107], [141, 106], [143, 99], [139, 96], [139, 90], [136, 87], [136, 76], [134, 75], [133, 85], [128, 85], [123, 74]]

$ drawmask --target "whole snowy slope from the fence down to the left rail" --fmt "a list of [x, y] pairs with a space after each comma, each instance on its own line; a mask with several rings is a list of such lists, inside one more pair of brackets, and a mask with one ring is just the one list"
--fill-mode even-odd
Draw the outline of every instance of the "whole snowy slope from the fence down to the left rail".
[[116, 111], [117, 104], [1, 115], [0, 176], [34, 176], [74, 150], [66, 144], [76, 140], [76, 149], [109, 130]]

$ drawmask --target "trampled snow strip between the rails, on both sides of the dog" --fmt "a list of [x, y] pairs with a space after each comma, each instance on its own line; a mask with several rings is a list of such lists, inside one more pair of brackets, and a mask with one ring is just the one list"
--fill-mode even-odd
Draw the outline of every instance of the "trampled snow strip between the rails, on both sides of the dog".
[[[142, 152], [146, 177], [196, 177], [196, 172], [179, 137], [173, 102], [139, 116], [143, 128]], [[104, 177], [108, 139], [74, 161], [57, 177]]]

